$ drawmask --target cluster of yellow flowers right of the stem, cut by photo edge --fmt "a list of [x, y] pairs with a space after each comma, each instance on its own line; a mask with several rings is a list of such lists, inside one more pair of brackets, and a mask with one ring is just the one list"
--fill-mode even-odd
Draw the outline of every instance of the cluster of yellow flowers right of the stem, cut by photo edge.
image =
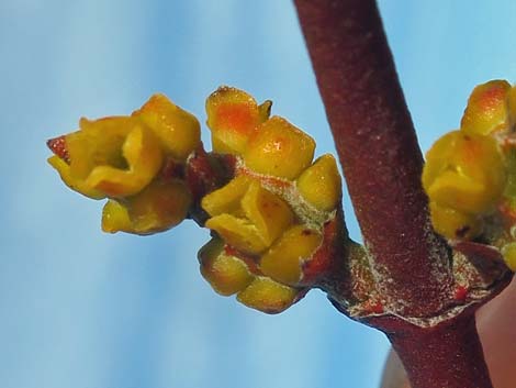
[[426, 154], [423, 186], [435, 230], [450, 240], [481, 239], [516, 268], [516, 88], [492, 80], [474, 88], [460, 129]]

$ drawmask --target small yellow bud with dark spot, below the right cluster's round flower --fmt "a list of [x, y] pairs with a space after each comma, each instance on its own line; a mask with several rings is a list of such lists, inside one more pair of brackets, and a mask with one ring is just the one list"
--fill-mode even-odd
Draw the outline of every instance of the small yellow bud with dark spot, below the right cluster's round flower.
[[437, 233], [450, 240], [472, 240], [482, 233], [482, 220], [476, 215], [430, 202], [431, 224]]

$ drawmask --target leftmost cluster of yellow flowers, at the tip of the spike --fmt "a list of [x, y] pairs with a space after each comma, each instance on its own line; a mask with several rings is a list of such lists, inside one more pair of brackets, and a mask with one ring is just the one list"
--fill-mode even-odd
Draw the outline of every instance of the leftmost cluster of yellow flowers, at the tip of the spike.
[[184, 165], [200, 145], [192, 114], [155, 95], [130, 117], [81, 119], [79, 126], [63, 138], [66, 157], [48, 162], [71, 189], [109, 198], [102, 212], [105, 232], [149, 234], [184, 220], [191, 196], [183, 179], [160, 173]]

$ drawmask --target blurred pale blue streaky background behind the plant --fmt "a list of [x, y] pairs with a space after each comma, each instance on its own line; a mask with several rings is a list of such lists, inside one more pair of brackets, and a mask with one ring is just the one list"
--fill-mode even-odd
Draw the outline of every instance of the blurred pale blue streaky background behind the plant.
[[[516, 2], [380, 7], [423, 148], [458, 125], [474, 85], [515, 80]], [[101, 203], [45, 163], [45, 140], [81, 115], [162, 91], [204, 121], [222, 84], [272, 99], [333, 152], [290, 1], [2, 0], [0, 75], [2, 388], [378, 386], [386, 341], [324, 295], [276, 317], [222, 298], [198, 270], [205, 231], [103, 234]]]

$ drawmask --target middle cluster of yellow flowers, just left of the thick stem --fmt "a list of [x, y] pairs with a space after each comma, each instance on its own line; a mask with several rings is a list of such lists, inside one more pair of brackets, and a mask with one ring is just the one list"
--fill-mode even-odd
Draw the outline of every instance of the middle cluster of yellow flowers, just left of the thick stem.
[[303, 265], [336, 215], [336, 162], [324, 155], [312, 163], [315, 142], [242, 90], [220, 88], [206, 112], [214, 151], [238, 164], [227, 185], [202, 199], [205, 226], [216, 232], [199, 255], [202, 274], [222, 295], [280, 312], [304, 295]]

